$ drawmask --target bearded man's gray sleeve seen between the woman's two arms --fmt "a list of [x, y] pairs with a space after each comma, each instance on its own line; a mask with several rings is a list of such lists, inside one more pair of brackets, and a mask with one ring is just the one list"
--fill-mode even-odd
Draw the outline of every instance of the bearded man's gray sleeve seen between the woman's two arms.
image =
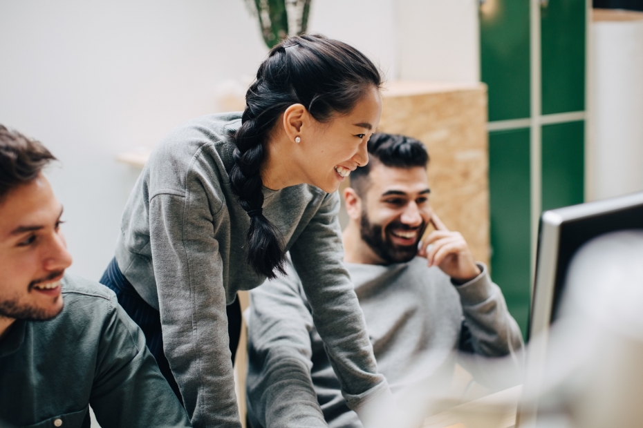
[[250, 292], [248, 414], [265, 428], [327, 427], [310, 378], [313, 316], [287, 272]]

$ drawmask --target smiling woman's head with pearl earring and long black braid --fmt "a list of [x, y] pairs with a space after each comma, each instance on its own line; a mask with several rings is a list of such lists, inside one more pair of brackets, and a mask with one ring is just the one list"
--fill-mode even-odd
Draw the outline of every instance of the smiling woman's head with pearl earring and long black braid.
[[247, 260], [260, 275], [283, 273], [284, 260], [279, 231], [261, 214], [262, 185], [337, 191], [368, 162], [366, 142], [382, 115], [380, 85], [378, 69], [359, 51], [318, 36], [291, 37], [259, 67], [234, 137], [230, 180], [251, 217]]

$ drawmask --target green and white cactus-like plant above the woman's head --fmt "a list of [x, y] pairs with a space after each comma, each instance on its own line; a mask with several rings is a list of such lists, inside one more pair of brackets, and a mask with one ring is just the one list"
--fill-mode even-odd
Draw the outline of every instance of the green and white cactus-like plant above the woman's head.
[[288, 36], [306, 32], [312, 0], [246, 0], [257, 14], [266, 46], [271, 49]]

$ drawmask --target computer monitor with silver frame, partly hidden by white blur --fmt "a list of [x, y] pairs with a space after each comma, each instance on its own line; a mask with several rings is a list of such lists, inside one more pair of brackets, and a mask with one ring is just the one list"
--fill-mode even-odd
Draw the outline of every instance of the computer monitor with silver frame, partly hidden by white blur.
[[568, 265], [586, 242], [604, 233], [643, 229], [643, 192], [545, 211], [541, 215], [530, 338], [557, 318]]

